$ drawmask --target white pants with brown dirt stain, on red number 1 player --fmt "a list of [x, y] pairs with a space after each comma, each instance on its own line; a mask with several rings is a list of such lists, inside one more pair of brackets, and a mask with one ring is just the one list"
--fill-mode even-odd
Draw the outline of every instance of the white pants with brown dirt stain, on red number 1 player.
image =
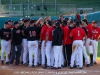
[[79, 67], [83, 67], [83, 55], [82, 55], [83, 42], [82, 42], [82, 40], [75, 40], [75, 41], [73, 41], [72, 47], [74, 45], [76, 45], [76, 48], [75, 48], [74, 52], [72, 53], [70, 66], [71, 67], [74, 66], [75, 57], [76, 57], [76, 54], [78, 54]]

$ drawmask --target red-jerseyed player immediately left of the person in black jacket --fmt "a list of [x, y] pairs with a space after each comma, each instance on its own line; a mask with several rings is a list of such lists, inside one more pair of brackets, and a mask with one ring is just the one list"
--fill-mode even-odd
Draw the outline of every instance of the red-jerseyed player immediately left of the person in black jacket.
[[46, 50], [47, 66], [45, 66], [44, 69], [51, 68], [51, 66], [53, 66], [54, 63], [53, 50], [51, 49], [54, 28], [52, 27], [51, 21], [48, 21], [47, 25], [48, 25], [48, 29], [46, 31], [46, 39], [44, 42], [44, 46]]

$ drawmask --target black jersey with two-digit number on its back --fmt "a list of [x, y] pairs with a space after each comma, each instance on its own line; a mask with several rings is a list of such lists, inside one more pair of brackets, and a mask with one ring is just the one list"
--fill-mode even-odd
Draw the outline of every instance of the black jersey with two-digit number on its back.
[[38, 40], [38, 28], [36, 26], [30, 26], [26, 28], [25, 35], [28, 41]]

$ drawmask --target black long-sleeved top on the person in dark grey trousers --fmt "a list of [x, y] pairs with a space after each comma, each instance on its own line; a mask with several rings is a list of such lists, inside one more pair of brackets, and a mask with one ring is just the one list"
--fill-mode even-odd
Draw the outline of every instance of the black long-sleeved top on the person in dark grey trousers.
[[13, 28], [11, 38], [13, 45], [20, 45], [22, 43], [22, 33], [20, 28]]

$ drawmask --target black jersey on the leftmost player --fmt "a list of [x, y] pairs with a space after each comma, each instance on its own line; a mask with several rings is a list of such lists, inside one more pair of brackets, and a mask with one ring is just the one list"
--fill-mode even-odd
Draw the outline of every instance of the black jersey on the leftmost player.
[[10, 40], [11, 39], [11, 29], [2, 28], [0, 30], [0, 36], [1, 36], [1, 39], [3, 40], [6, 40], [6, 41]]

